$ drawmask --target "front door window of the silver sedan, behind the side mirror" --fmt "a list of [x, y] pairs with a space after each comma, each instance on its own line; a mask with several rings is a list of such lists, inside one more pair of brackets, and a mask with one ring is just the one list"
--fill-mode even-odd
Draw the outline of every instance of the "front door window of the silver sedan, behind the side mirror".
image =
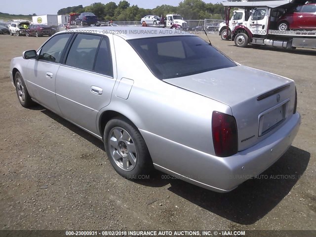
[[39, 60], [59, 63], [71, 34], [61, 34], [48, 40], [40, 50]]

